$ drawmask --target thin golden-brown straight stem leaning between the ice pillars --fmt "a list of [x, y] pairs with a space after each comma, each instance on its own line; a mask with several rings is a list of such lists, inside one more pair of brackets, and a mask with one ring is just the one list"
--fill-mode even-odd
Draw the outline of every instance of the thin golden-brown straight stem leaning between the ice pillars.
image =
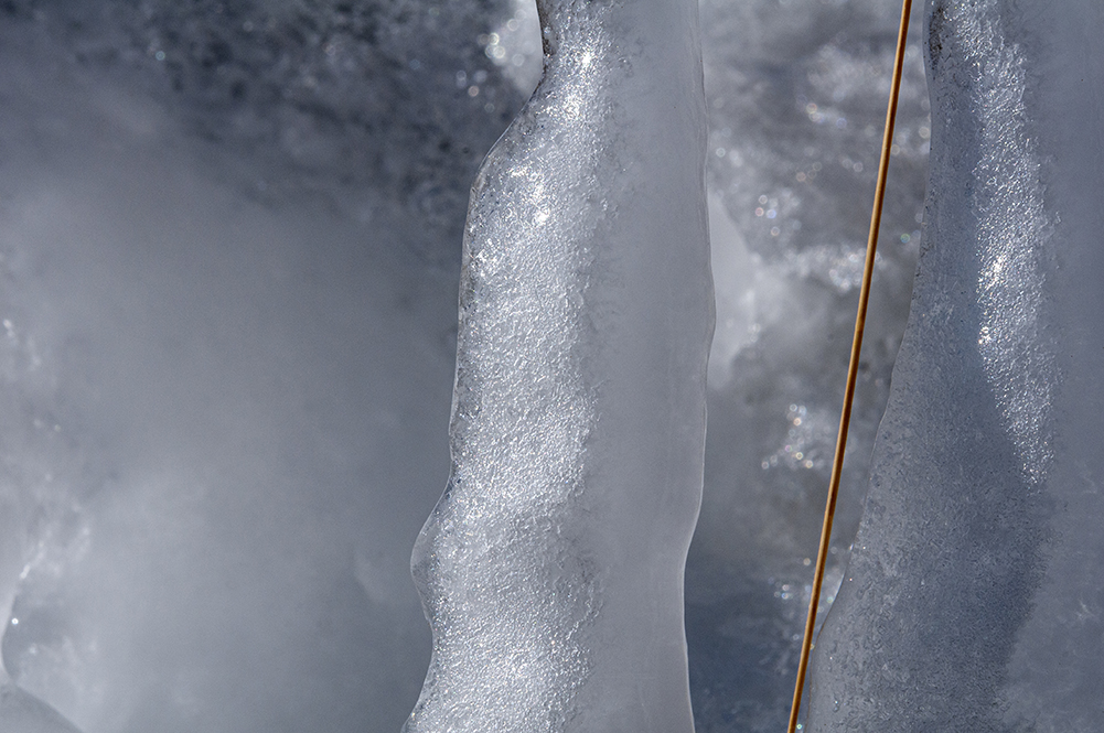
[[874, 188], [874, 208], [870, 214], [870, 235], [867, 238], [867, 263], [862, 270], [862, 287], [859, 289], [859, 312], [854, 317], [854, 338], [851, 341], [851, 359], [847, 365], [847, 387], [843, 391], [843, 411], [839, 418], [839, 434], [836, 437], [836, 455], [831, 464], [831, 479], [828, 481], [828, 501], [825, 504], [825, 521], [820, 529], [820, 546], [817, 550], [817, 566], [813, 575], [813, 596], [805, 620], [805, 637], [802, 639], [802, 656], [797, 663], [797, 682], [794, 686], [794, 702], [789, 709], [788, 733], [797, 730], [797, 714], [802, 708], [805, 691], [805, 673], [813, 649], [813, 629], [816, 625], [817, 608], [820, 605], [820, 586], [824, 583], [825, 562], [831, 539], [831, 523], [836, 516], [836, 498], [839, 495], [839, 477], [843, 468], [843, 453], [847, 449], [847, 428], [851, 424], [851, 404], [854, 401], [854, 382], [859, 373], [859, 354], [862, 351], [862, 332], [867, 325], [867, 304], [870, 300], [870, 279], [874, 273], [874, 253], [878, 251], [878, 229], [882, 223], [882, 202], [885, 199], [885, 176], [890, 167], [890, 150], [893, 147], [893, 125], [896, 121], [898, 95], [901, 91], [901, 71], [904, 66], [904, 46], [909, 38], [909, 13], [912, 0], [904, 0], [901, 7], [901, 29], [898, 31], [896, 56], [893, 61], [893, 82], [890, 86], [890, 104], [885, 113], [885, 132], [882, 136], [882, 157], [878, 163], [878, 185]]

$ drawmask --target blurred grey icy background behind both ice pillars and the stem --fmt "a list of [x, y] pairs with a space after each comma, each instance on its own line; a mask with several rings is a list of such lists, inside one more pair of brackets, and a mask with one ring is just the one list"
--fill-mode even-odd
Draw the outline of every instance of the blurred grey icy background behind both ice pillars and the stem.
[[[718, 328], [699, 731], [785, 724], [896, 0], [702, 0]], [[826, 601], [907, 315], [914, 13]], [[0, 1], [3, 668], [87, 733], [397, 731], [429, 633], [467, 191], [514, 0]], [[629, 631], [627, 631], [629, 633]]]

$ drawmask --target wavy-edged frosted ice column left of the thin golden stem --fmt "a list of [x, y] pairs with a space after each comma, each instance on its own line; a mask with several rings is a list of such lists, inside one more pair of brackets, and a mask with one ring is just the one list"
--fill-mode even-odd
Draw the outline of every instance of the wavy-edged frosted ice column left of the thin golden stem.
[[471, 190], [406, 730], [689, 732], [713, 298], [697, 2], [539, 10], [543, 79]]

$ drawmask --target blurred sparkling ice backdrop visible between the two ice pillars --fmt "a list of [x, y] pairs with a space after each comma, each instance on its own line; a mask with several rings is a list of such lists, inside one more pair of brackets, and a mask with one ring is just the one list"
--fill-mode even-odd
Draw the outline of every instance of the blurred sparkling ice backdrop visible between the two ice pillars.
[[[898, 0], [701, 4], [718, 326], [705, 490], [687, 562], [699, 733], [786, 726], [900, 12]], [[915, 275], [930, 138], [921, 15], [825, 610], [858, 525]]]

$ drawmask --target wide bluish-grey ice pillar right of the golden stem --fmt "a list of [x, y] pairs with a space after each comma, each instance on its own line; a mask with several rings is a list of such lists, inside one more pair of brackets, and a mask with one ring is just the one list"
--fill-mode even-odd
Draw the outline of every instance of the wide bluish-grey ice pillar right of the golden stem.
[[813, 731], [1104, 730], [1104, 4], [930, 0], [912, 314]]

